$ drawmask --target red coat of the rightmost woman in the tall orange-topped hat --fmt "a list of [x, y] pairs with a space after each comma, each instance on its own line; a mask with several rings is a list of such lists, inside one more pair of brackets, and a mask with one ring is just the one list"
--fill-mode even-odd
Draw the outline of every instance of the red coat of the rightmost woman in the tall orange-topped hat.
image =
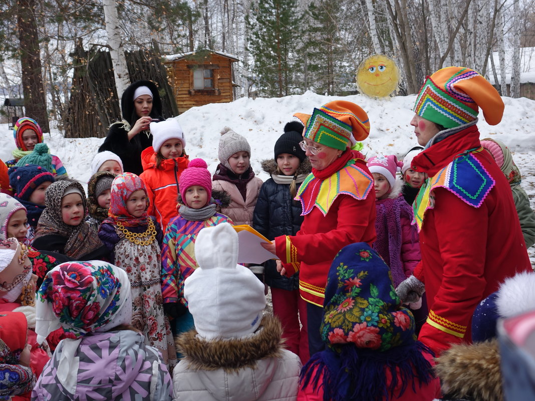
[[[470, 342], [477, 304], [498, 290], [506, 277], [531, 271], [509, 183], [492, 157], [479, 151], [480, 146], [474, 125], [433, 144], [412, 160], [412, 169], [429, 174], [433, 182], [453, 176], [454, 170], [445, 174], [448, 165], [453, 166], [452, 161], [464, 151], [476, 149], [470, 152], [475, 158], [472, 164], [479, 161], [483, 167], [477, 174], [485, 176], [485, 183], [495, 181], [476, 206], [463, 200], [462, 193], [455, 194], [453, 186], [437, 186], [430, 197], [434, 195], [434, 205], [423, 214], [419, 233], [422, 262], [414, 275], [425, 283], [430, 311], [418, 339], [437, 354], [451, 343]], [[466, 180], [466, 175], [457, 179]]]

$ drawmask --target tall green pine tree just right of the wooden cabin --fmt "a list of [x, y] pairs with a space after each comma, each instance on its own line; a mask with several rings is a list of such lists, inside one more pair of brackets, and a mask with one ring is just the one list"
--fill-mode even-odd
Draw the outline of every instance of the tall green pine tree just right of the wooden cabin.
[[262, 0], [246, 16], [248, 50], [253, 73], [266, 96], [285, 96], [294, 85], [295, 47], [299, 43], [301, 17], [295, 0]]

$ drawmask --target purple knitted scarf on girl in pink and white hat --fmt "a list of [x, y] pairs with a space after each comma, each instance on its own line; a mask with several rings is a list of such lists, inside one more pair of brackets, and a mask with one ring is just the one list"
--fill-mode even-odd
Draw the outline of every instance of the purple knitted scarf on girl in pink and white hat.
[[[377, 240], [372, 245], [373, 250], [379, 253], [390, 267], [394, 287], [398, 287], [407, 278], [401, 261], [401, 216], [412, 221], [412, 207], [402, 196], [398, 196], [395, 199], [376, 201], [375, 209]], [[417, 241], [416, 238], [415, 240]]]

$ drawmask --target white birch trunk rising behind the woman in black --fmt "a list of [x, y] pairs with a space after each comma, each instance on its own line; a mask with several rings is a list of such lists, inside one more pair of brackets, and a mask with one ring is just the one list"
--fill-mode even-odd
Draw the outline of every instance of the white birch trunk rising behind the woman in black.
[[115, 0], [102, 0], [104, 9], [104, 21], [106, 24], [106, 33], [108, 34], [108, 45], [110, 48], [111, 61], [113, 63], [113, 76], [115, 78], [115, 87], [117, 88], [117, 97], [121, 104], [123, 92], [130, 84], [130, 76], [126, 64], [125, 50], [123, 48], [123, 39], [121, 38], [121, 27], [119, 25], [119, 16]]

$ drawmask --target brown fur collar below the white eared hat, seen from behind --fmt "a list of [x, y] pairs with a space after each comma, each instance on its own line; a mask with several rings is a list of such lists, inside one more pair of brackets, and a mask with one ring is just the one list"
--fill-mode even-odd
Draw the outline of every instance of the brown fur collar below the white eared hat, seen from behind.
[[250, 337], [236, 340], [207, 341], [191, 330], [175, 339], [177, 350], [194, 371], [237, 372], [254, 368], [259, 359], [278, 357], [283, 349], [282, 326], [277, 318], [264, 316], [258, 331]]

